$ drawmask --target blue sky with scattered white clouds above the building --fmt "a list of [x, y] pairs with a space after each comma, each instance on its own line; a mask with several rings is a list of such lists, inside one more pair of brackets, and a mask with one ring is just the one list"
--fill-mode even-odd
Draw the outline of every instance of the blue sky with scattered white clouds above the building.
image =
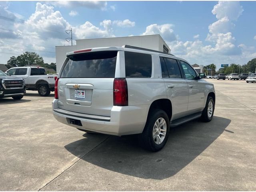
[[0, 1], [0, 63], [25, 51], [56, 62], [76, 39], [160, 34], [190, 64], [256, 58], [255, 1]]

